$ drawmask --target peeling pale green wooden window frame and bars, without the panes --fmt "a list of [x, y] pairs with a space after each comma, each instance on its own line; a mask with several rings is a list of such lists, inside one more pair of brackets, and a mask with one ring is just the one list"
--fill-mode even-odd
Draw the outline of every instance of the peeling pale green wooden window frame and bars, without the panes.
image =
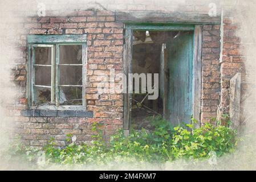
[[[46, 110], [86, 110], [86, 52], [87, 36], [83, 35], [28, 35], [29, 61], [27, 63], [27, 98], [30, 109]], [[60, 64], [59, 46], [82, 45], [82, 64]], [[51, 65], [35, 64], [35, 47], [51, 48]], [[82, 66], [82, 85], [60, 85], [59, 67]], [[35, 66], [51, 67], [51, 86], [35, 85]], [[82, 87], [82, 105], [60, 105], [60, 86], [80, 86]], [[35, 87], [45, 87], [51, 89], [51, 105], [34, 105]]]

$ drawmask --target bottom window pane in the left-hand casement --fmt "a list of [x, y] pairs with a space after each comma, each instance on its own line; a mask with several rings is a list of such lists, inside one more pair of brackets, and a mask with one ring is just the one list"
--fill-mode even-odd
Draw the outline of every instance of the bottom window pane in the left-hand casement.
[[51, 102], [51, 88], [34, 86], [35, 103], [34, 105], [42, 105]]

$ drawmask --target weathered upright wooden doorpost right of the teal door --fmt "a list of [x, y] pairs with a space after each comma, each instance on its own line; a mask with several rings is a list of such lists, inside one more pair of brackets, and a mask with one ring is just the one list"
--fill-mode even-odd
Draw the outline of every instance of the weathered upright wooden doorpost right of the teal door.
[[[196, 25], [194, 30], [194, 58], [193, 58], [193, 117], [200, 122], [201, 114], [201, 75], [202, 75], [202, 26]], [[197, 127], [200, 127], [198, 123]]]

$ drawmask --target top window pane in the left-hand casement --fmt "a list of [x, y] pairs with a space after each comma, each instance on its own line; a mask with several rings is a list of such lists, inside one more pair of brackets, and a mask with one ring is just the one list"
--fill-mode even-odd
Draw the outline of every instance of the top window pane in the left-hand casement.
[[51, 47], [35, 47], [35, 64], [51, 65]]

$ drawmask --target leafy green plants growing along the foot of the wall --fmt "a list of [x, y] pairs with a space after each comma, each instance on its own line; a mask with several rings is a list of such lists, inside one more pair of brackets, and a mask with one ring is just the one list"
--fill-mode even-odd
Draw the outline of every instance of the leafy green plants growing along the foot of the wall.
[[[106, 164], [109, 162], [166, 162], [174, 159], [209, 158], [212, 152], [221, 156], [232, 152], [237, 144], [236, 131], [229, 126], [205, 123], [195, 128], [196, 119], [190, 124], [173, 127], [161, 117], [149, 118], [153, 130], [132, 130], [128, 137], [123, 130], [111, 136], [110, 142], [103, 139], [100, 124], [94, 123], [96, 135], [91, 144], [76, 144], [72, 135], [67, 135], [67, 147], [55, 146], [54, 138], [43, 148], [46, 163], [62, 164]], [[30, 161], [37, 160], [38, 154], [31, 147], [13, 150], [13, 154], [25, 154]]]

